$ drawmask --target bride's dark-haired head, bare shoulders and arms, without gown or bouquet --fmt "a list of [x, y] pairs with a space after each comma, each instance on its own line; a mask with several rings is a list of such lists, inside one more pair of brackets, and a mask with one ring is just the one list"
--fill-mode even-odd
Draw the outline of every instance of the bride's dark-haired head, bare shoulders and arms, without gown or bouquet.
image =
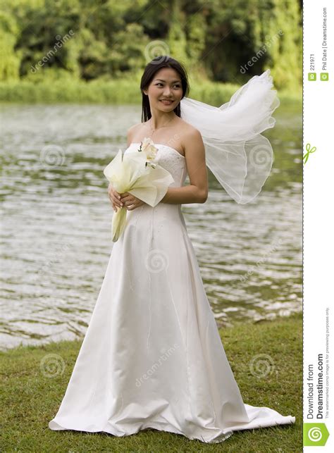
[[[151, 137], [155, 144], [173, 147], [185, 158], [190, 185], [170, 187], [161, 201], [178, 205], [204, 203], [208, 196], [208, 178], [202, 135], [199, 130], [179, 116], [180, 101], [189, 90], [187, 76], [182, 69], [181, 73], [168, 67], [157, 69], [156, 65], [152, 64], [142, 77], [143, 113], [146, 113], [145, 118], [149, 116], [149, 111], [151, 115], [144, 123], [133, 125], [128, 130], [128, 146], [130, 147], [131, 144], [139, 146], [144, 137]], [[153, 71], [156, 71], [154, 75]], [[187, 154], [186, 150], [189, 150]], [[113, 192], [111, 186], [109, 186], [109, 193], [115, 211], [116, 206], [124, 205], [131, 211], [144, 204], [143, 201], [128, 193], [122, 194], [122, 198], [119, 199], [120, 194]]]

